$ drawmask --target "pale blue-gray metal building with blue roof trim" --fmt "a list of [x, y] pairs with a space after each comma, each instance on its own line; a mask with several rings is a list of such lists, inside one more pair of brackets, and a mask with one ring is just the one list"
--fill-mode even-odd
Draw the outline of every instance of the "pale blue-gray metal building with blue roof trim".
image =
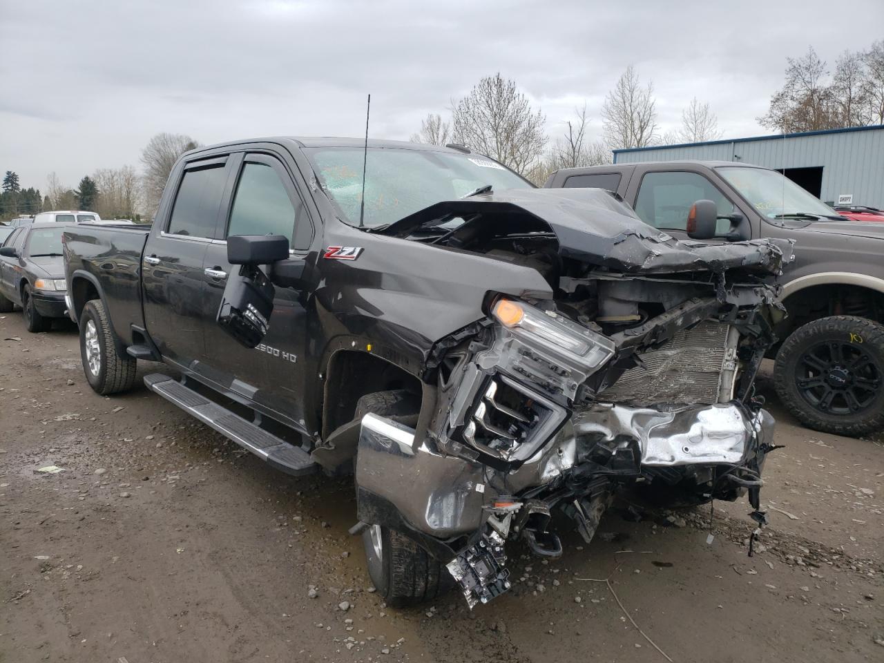
[[676, 159], [775, 168], [829, 204], [884, 210], [884, 125], [613, 150], [614, 164]]

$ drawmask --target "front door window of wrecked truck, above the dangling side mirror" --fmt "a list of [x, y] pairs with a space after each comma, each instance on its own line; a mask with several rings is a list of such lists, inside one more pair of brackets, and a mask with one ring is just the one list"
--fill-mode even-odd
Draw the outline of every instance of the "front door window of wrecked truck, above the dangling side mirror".
[[227, 236], [231, 235], [283, 235], [292, 248], [309, 248], [311, 227], [303, 205], [293, 204], [269, 164], [247, 161], [243, 166], [227, 226]]

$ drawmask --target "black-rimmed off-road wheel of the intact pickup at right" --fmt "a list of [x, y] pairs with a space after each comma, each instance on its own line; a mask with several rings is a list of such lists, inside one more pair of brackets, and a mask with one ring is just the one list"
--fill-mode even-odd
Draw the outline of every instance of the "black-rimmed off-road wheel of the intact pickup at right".
[[804, 324], [780, 347], [773, 381], [783, 405], [815, 431], [884, 429], [884, 325], [855, 316]]

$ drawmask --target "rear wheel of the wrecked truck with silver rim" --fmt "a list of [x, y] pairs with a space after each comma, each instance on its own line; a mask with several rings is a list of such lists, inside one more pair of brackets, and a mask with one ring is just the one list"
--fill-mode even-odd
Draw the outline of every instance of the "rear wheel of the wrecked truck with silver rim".
[[135, 384], [137, 360], [117, 354], [110, 320], [101, 300], [88, 301], [80, 314], [80, 359], [93, 391], [107, 396]]

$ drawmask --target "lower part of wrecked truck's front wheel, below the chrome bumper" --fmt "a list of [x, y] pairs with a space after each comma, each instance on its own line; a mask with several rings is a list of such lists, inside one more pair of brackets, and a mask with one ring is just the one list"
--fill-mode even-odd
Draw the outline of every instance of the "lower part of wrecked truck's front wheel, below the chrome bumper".
[[443, 564], [396, 530], [369, 525], [362, 542], [371, 582], [389, 606], [419, 605], [453, 584]]

